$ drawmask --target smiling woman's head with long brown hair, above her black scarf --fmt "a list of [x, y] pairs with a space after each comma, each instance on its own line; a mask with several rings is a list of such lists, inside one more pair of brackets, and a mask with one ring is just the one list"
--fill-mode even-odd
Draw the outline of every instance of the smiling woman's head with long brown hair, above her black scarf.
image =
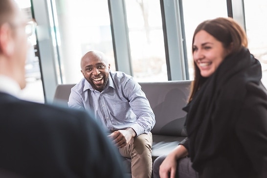
[[192, 42], [195, 80], [190, 98], [226, 56], [239, 52], [243, 47], [247, 47], [245, 31], [233, 19], [216, 18], [201, 22]]

